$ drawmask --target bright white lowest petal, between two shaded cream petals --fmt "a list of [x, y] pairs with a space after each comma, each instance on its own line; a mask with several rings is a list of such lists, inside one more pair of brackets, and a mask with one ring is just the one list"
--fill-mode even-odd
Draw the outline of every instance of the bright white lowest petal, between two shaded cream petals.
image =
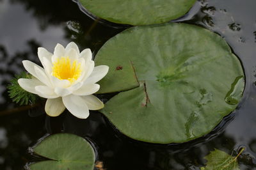
[[75, 95], [68, 95], [62, 98], [63, 104], [74, 116], [86, 119], [89, 116], [89, 109], [83, 98]]

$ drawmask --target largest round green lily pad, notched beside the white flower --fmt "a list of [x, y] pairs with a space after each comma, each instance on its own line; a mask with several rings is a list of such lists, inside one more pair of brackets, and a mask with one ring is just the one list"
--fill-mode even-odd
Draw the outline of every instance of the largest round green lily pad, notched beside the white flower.
[[227, 43], [188, 24], [127, 29], [104, 44], [95, 63], [109, 66], [100, 93], [123, 91], [100, 112], [148, 143], [208, 134], [236, 109], [244, 89], [243, 68]]

